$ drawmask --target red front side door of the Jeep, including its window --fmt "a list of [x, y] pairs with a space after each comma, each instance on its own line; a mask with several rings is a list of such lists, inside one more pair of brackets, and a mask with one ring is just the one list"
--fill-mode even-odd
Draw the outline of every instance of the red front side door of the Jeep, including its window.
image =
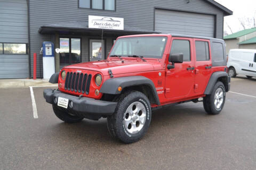
[[[171, 54], [183, 53], [183, 63], [175, 63], [175, 68], [166, 70], [165, 97], [172, 100], [189, 97], [194, 94], [194, 56], [190, 38], [173, 38]], [[171, 64], [171, 63], [170, 63]]]

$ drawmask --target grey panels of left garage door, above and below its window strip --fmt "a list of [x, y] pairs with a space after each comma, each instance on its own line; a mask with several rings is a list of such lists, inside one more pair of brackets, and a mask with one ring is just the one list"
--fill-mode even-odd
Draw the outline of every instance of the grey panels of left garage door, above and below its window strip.
[[[28, 43], [27, 0], [0, 0], [0, 14], [0, 42]], [[0, 79], [28, 77], [27, 54], [0, 54]]]

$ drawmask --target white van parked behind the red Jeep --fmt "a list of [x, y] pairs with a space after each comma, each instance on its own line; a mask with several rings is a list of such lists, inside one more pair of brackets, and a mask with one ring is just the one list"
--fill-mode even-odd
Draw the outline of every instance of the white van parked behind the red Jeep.
[[227, 66], [231, 78], [237, 74], [256, 77], [256, 49], [230, 49]]

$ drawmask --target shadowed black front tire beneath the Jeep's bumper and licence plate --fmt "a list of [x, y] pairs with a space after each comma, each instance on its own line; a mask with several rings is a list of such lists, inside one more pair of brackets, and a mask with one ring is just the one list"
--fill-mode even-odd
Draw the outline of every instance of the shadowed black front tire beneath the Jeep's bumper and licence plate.
[[59, 106], [52, 105], [53, 112], [55, 115], [63, 122], [66, 123], [77, 123], [81, 122], [84, 117], [79, 117], [76, 115], [69, 114], [64, 108], [60, 108]]

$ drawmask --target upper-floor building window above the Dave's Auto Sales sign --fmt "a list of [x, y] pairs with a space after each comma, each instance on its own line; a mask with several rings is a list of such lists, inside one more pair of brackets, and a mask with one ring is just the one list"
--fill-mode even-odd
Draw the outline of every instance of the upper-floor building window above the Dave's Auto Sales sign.
[[78, 0], [79, 7], [115, 11], [115, 0]]

